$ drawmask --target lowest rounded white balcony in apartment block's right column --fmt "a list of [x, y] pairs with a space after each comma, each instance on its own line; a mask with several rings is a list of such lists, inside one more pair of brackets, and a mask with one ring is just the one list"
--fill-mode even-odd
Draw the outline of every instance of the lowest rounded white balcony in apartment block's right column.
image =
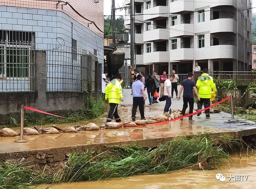
[[198, 48], [195, 52], [195, 59], [219, 59], [231, 58], [236, 59], [237, 48], [234, 45], [215, 45], [204, 48]]

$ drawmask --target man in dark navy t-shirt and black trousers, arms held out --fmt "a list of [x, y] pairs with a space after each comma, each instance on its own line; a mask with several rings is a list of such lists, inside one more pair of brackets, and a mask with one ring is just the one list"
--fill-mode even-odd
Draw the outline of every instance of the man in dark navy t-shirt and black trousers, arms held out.
[[[196, 83], [193, 80], [193, 73], [189, 72], [188, 73], [188, 79], [184, 79], [181, 83], [181, 87], [180, 87], [180, 91], [179, 91], [179, 97], [178, 100], [180, 100], [180, 94], [183, 91], [183, 108], [182, 108], [182, 115], [185, 115], [185, 111], [188, 108], [188, 103], [189, 103], [189, 114], [193, 113], [193, 109], [194, 109], [194, 95], [193, 95], [193, 90], [197, 96], [198, 101], [200, 101], [200, 98], [198, 97], [198, 92], [196, 89]], [[189, 116], [189, 122], [194, 121], [192, 119], [192, 115]]]

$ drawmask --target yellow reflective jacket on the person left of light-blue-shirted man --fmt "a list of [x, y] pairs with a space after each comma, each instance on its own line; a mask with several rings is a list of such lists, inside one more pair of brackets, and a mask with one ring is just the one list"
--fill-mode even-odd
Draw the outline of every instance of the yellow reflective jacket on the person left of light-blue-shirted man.
[[109, 103], [119, 104], [120, 98], [124, 97], [122, 94], [121, 83], [116, 79], [113, 79], [105, 89], [105, 99], [108, 99]]

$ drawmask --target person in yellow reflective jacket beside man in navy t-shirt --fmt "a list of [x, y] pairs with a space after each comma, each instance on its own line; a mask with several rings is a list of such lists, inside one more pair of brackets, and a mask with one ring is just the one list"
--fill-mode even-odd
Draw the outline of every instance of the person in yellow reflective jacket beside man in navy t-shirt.
[[[203, 74], [198, 78], [196, 82], [196, 87], [199, 89], [198, 96], [200, 98], [200, 101], [197, 102], [198, 110], [202, 110], [203, 104], [205, 108], [209, 107], [211, 92], [215, 92], [217, 91], [217, 89], [215, 83], [213, 82], [212, 77], [208, 75], [208, 69], [203, 69]], [[197, 116], [201, 114], [202, 113], [198, 113]], [[205, 116], [210, 117], [209, 109], [205, 110]]]

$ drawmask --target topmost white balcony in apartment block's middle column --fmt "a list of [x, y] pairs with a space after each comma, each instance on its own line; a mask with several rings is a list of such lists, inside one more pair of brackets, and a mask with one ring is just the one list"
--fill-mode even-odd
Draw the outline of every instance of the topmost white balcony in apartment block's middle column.
[[194, 0], [170, 2], [170, 13], [182, 13], [194, 11]]

